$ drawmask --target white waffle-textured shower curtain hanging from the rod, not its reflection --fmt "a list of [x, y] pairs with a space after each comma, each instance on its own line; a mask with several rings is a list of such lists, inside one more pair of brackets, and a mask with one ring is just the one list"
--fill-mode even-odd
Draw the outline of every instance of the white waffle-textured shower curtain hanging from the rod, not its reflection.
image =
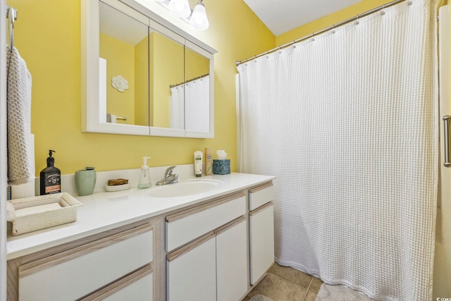
[[276, 261], [431, 300], [435, 2], [404, 1], [238, 66], [240, 171], [277, 176]]

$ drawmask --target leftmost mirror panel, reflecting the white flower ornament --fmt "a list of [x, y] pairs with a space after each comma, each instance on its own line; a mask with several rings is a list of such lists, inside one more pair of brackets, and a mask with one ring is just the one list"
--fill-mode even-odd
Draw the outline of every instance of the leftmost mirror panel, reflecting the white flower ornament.
[[106, 121], [149, 125], [149, 27], [99, 5], [99, 84], [105, 87]]

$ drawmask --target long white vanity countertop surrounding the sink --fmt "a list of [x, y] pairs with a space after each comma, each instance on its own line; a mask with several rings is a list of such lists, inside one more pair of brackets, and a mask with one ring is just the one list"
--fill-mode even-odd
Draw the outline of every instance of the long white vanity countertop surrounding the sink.
[[[8, 231], [7, 259], [14, 259], [128, 223], [158, 216], [206, 199], [259, 185], [273, 178], [273, 176], [247, 173], [202, 176], [202, 179], [220, 180], [222, 184], [214, 190], [183, 197], [150, 197], [149, 191], [158, 188], [153, 185], [154, 183], [152, 188], [145, 190], [131, 188], [118, 192], [96, 192], [85, 197], [75, 196], [83, 204], [78, 207], [77, 221], [18, 236], [12, 236], [11, 231]], [[180, 182], [186, 179], [180, 178]]]

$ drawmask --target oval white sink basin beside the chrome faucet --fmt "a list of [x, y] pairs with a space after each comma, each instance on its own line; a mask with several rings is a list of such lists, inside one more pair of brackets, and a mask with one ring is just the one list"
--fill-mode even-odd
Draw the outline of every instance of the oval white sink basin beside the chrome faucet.
[[168, 185], [152, 187], [147, 194], [151, 197], [183, 197], [209, 192], [221, 186], [220, 180], [192, 179]]

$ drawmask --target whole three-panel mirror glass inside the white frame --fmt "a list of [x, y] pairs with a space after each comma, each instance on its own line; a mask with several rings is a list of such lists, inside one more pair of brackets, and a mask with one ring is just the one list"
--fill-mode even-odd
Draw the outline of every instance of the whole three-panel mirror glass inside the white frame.
[[208, 133], [210, 59], [133, 16], [99, 3], [104, 122]]

